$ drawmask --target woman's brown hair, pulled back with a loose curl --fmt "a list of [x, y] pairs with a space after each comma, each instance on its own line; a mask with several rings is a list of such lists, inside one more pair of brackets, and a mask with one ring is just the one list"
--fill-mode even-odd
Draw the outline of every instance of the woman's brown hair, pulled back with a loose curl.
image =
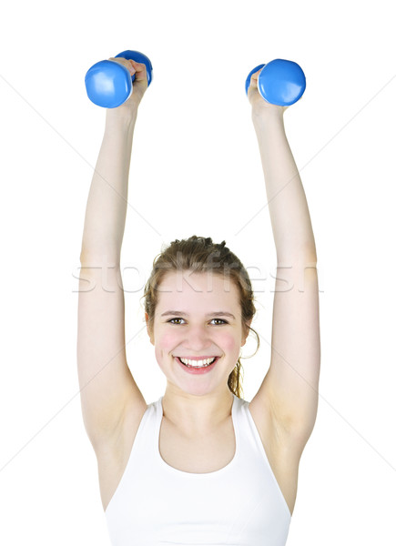
[[[218, 261], [213, 262], [212, 259], [215, 257], [218, 257]], [[172, 271], [211, 272], [220, 277], [229, 276], [231, 282], [239, 290], [242, 327], [244, 327], [245, 331], [249, 329], [256, 334], [258, 340], [256, 352], [259, 350], [259, 335], [256, 330], [250, 328], [247, 324], [250, 319], [253, 319], [256, 313], [249, 274], [239, 258], [226, 247], [226, 241], [216, 244], [209, 237], [203, 238], [196, 235], [188, 239], [176, 239], [170, 243], [168, 248], [163, 248], [162, 252], [154, 258], [153, 269], [147, 280], [144, 295], [142, 296], [142, 298], [145, 298], [145, 310], [148, 316], [149, 329], [154, 323], [158, 302], [157, 288], [163, 278]], [[240, 359], [241, 357], [239, 357], [235, 368], [228, 376], [228, 388], [238, 398], [242, 396], [240, 378], [242, 365]]]

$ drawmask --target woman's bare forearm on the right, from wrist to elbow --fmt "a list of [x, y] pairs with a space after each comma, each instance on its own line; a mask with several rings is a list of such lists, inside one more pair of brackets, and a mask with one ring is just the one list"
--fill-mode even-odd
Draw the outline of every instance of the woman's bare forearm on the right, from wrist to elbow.
[[278, 262], [316, 261], [310, 211], [286, 137], [283, 115], [252, 112]]

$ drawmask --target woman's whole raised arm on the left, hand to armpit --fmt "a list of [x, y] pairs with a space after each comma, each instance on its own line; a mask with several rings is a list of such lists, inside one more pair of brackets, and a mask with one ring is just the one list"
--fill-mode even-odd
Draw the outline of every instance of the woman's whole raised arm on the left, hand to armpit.
[[137, 76], [127, 102], [106, 111], [80, 255], [77, 369], [84, 424], [97, 449], [117, 437], [127, 408], [134, 405], [138, 411], [146, 405], [127, 366], [120, 254], [137, 108], [147, 76], [145, 65], [117, 62], [131, 74], [137, 70]]

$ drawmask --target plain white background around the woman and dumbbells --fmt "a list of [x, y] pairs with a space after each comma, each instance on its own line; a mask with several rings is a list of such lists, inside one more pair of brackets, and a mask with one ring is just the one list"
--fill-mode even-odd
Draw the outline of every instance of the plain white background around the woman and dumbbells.
[[[391, 3], [38, 0], [8, 3], [0, 36], [0, 542], [110, 544], [76, 373], [79, 254], [105, 122], [84, 77], [137, 49], [154, 68], [122, 253], [139, 388], [150, 403], [166, 387], [143, 286], [161, 246], [193, 234], [225, 239], [257, 291], [245, 399], [267, 372], [276, 254], [244, 86], [253, 67], [293, 60], [307, 89], [285, 126], [318, 252], [321, 375], [288, 546], [394, 543]], [[251, 337], [244, 356], [255, 349]]]

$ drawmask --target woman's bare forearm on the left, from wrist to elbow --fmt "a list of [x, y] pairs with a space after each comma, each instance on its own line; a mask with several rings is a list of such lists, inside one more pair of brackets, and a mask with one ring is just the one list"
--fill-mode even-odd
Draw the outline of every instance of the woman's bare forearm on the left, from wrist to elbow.
[[81, 262], [103, 258], [119, 263], [136, 121], [137, 110], [120, 116], [107, 109], [105, 134], [86, 203]]

